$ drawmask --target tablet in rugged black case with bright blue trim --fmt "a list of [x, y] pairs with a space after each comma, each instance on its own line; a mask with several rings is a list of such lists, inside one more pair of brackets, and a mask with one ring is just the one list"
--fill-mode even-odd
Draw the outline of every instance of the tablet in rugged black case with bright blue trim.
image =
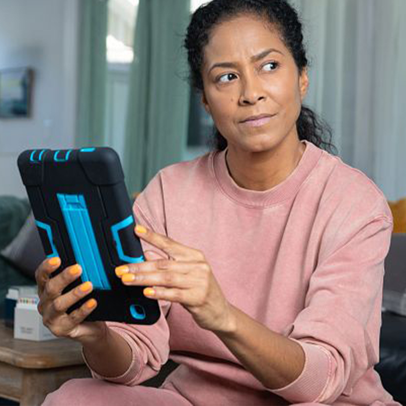
[[117, 153], [104, 147], [26, 150], [18, 167], [45, 255], [62, 261], [52, 276], [80, 264], [81, 277], [63, 293], [86, 281], [93, 284], [68, 313], [93, 297], [98, 305], [87, 321], [155, 323], [158, 301], [144, 296], [143, 286], [123, 285], [114, 272], [144, 261]]

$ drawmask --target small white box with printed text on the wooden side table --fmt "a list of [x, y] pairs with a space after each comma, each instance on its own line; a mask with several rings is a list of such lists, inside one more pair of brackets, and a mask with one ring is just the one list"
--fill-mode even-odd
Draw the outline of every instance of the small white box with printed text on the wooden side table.
[[38, 296], [20, 297], [14, 309], [14, 338], [44, 341], [58, 338], [42, 322], [37, 310]]

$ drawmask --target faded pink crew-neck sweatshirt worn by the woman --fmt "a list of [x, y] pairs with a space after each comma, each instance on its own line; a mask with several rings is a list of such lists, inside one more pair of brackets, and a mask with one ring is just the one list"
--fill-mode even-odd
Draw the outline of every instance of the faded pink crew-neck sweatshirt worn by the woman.
[[303, 142], [298, 166], [270, 190], [239, 187], [226, 151], [211, 152], [161, 170], [134, 204], [137, 223], [203, 251], [230, 303], [302, 346], [302, 374], [266, 388], [180, 304], [159, 301], [152, 326], [109, 323], [133, 361], [122, 376], [93, 377], [136, 385], [169, 357], [180, 366], [162, 387], [196, 406], [399, 405], [374, 370], [390, 209], [361, 171]]

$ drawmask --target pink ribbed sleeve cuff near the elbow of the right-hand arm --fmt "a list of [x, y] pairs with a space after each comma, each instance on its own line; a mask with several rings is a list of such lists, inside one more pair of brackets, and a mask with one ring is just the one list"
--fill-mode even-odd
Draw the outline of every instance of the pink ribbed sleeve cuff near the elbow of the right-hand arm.
[[316, 402], [322, 396], [330, 379], [331, 355], [319, 345], [290, 339], [303, 348], [305, 353], [303, 371], [289, 385], [268, 390], [289, 402]]

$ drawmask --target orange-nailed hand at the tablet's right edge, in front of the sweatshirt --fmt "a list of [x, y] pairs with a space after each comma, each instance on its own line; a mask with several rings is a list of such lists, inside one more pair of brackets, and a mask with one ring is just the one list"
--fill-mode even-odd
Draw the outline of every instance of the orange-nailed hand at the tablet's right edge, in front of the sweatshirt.
[[125, 285], [152, 287], [144, 289], [147, 297], [180, 303], [203, 329], [232, 331], [231, 305], [203, 252], [143, 226], [136, 226], [135, 233], [168, 254], [170, 259], [153, 259], [150, 251], [146, 251], [144, 255], [147, 261], [116, 268], [122, 282]]

